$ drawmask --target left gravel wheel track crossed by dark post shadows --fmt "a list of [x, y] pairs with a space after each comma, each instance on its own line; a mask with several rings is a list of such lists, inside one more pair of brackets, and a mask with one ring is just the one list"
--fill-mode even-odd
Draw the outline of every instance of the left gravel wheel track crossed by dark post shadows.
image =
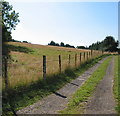
[[107, 57], [96, 63], [92, 68], [89, 68], [80, 77], [63, 86], [57, 92], [53, 92], [53, 94], [43, 98], [37, 103], [17, 111], [17, 114], [58, 114], [57, 112], [66, 107], [71, 96], [78, 90], [78, 88], [81, 87], [81, 85], [92, 75], [92, 73], [105, 59], [107, 59]]

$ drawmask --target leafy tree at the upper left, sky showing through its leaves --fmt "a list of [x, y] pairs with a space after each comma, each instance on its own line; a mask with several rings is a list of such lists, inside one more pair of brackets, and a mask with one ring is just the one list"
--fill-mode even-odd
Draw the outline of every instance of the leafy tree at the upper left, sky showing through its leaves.
[[18, 19], [18, 13], [13, 10], [13, 6], [9, 5], [9, 2], [3, 1], [0, 5], [2, 8], [2, 54], [8, 56], [9, 50], [7, 49], [5, 42], [12, 40], [11, 31], [12, 29], [15, 30], [15, 27], [20, 20]]

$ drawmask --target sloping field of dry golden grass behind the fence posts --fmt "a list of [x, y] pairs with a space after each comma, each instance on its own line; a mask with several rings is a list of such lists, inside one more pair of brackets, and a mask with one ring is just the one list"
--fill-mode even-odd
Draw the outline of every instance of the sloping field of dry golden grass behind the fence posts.
[[[70, 66], [75, 67], [75, 54], [77, 54], [77, 67], [80, 65], [80, 52], [82, 53], [81, 63], [84, 63], [83, 53], [90, 50], [35, 45], [30, 43], [9, 42], [8, 45], [26, 47], [32, 52], [24, 53], [12, 50], [10, 52], [12, 62], [8, 64], [9, 87], [14, 88], [19, 85], [26, 85], [43, 78], [43, 55], [46, 55], [47, 75], [59, 72], [59, 55], [61, 55], [62, 71], [69, 66], [69, 54], [71, 55]], [[93, 56], [89, 60], [100, 56], [100, 51], [93, 51]], [[4, 81], [4, 80], [3, 80]], [[3, 82], [4, 88], [4, 82]]]

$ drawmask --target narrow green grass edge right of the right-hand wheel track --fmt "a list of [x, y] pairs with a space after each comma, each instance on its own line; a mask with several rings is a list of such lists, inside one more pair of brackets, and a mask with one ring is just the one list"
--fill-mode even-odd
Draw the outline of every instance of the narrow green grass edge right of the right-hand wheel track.
[[115, 107], [118, 115], [120, 116], [120, 55], [117, 56], [114, 60], [114, 87], [113, 93], [114, 98], [117, 102], [117, 106]]

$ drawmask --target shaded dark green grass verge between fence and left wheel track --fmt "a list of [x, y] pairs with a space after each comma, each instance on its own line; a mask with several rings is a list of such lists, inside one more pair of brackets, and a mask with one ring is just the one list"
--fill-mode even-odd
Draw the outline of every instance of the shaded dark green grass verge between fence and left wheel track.
[[40, 79], [37, 82], [30, 83], [26, 86], [16, 86], [14, 89], [9, 89], [8, 97], [5, 91], [3, 91], [3, 115], [12, 115], [9, 103], [11, 103], [11, 106], [15, 111], [29, 106], [43, 97], [53, 93], [53, 91], [60, 89], [71, 80], [77, 78], [104, 57], [106, 57], [106, 55], [86, 62], [86, 64], [83, 64], [74, 70], [68, 68], [64, 73], [52, 75], [48, 77], [47, 80]]

